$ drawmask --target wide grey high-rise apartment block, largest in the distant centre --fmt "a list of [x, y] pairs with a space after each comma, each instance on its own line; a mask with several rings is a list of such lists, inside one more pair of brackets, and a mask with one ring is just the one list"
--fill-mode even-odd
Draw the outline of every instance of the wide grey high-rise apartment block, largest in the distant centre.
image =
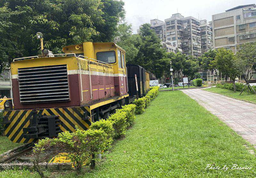
[[150, 20], [150, 25], [163, 42], [161, 44], [166, 51], [182, 51], [186, 55], [201, 56], [200, 20], [176, 13], [164, 21]]

